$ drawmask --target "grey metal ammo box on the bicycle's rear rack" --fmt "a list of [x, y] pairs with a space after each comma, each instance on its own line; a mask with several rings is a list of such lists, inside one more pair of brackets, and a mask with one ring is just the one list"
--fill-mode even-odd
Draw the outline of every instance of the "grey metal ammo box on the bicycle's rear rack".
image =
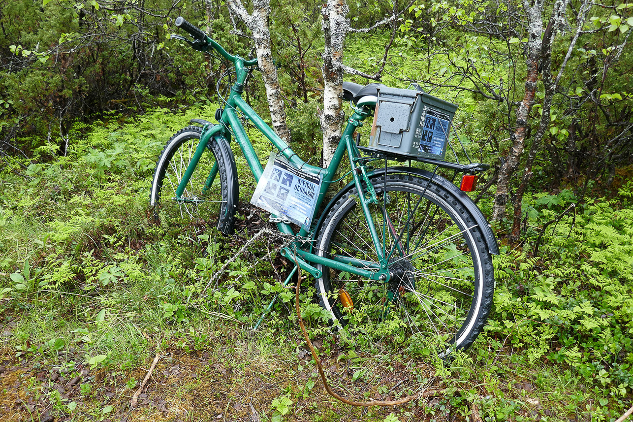
[[368, 148], [443, 160], [457, 108], [422, 91], [380, 88]]

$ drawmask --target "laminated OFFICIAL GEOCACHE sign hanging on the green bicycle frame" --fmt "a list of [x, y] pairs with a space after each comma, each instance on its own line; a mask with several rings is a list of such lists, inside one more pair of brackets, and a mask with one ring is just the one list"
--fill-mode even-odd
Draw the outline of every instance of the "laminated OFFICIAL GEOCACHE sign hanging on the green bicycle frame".
[[295, 169], [277, 154], [270, 153], [251, 203], [310, 230], [321, 180], [321, 176]]

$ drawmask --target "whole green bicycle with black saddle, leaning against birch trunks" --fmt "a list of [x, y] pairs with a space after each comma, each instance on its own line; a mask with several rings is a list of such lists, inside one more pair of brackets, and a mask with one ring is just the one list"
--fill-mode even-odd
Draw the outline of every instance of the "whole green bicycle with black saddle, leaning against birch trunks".
[[[310, 165], [242, 99], [244, 82], [257, 59], [227, 53], [182, 17], [175, 24], [193, 41], [180, 35], [172, 37], [197, 51], [215, 52], [232, 63], [235, 83], [224, 107], [216, 111], [219, 124], [193, 119], [192, 125], [166, 143], [154, 172], [151, 206], [158, 212], [192, 217], [205, 213], [217, 218], [222, 233], [234, 233], [239, 182], [230, 148], [232, 137], [256, 181], [264, 171], [239, 113], [294, 169], [322, 179], [316, 210], [322, 207], [330, 184], [339, 180], [335, 175], [347, 155], [353, 180], [323, 205], [312, 224], [297, 231], [283, 215], [272, 213], [280, 233], [294, 236], [282, 248], [282, 256], [315, 279], [318, 300], [337, 328], [358, 321], [389, 322], [404, 327], [411, 338], [440, 338], [444, 344], [439, 350], [442, 356], [472, 344], [491, 310], [491, 254], [499, 253], [498, 246], [477, 205], [436, 172], [439, 167], [447, 167], [472, 175], [486, 166], [420, 159], [436, 166], [429, 172], [411, 167], [411, 161], [408, 167], [387, 167], [388, 157], [384, 155], [384, 167], [370, 167], [380, 151], [359, 146], [358, 137], [355, 143], [353, 136], [374, 113], [379, 89], [384, 86], [351, 82], [344, 82], [343, 89], [353, 113], [334, 157], [325, 168]], [[361, 150], [374, 155], [363, 155]], [[203, 156], [205, 160], [201, 160]], [[292, 269], [285, 285], [297, 270], [296, 266]]]

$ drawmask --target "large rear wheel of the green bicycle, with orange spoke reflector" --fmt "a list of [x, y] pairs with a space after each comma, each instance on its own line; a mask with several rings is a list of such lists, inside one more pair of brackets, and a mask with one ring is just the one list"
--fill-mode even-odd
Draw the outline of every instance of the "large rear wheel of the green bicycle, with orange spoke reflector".
[[[371, 182], [380, 205], [370, 212], [385, 252], [394, 251], [388, 265], [396, 276], [384, 283], [318, 265], [320, 304], [339, 328], [390, 319], [410, 330], [408, 341], [439, 335], [441, 357], [467, 348], [486, 324], [494, 291], [492, 258], [477, 222], [460, 199], [435, 182], [427, 187], [422, 177], [391, 174], [386, 183], [384, 175]], [[329, 208], [317, 236], [318, 255], [377, 262], [358, 202], [352, 188]], [[382, 231], [382, 221], [391, 221], [391, 233], [388, 224]]]

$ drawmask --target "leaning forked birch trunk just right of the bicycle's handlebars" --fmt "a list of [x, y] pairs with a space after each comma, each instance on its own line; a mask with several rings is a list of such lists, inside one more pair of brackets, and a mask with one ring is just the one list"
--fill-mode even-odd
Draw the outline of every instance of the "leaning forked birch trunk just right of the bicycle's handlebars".
[[229, 10], [234, 13], [244, 25], [253, 33], [255, 51], [261, 76], [266, 87], [266, 99], [272, 126], [277, 135], [284, 141], [290, 141], [290, 129], [286, 123], [284, 98], [281, 94], [277, 68], [273, 63], [270, 49], [270, 30], [268, 29], [268, 15], [270, 15], [270, 0], [254, 0], [253, 14], [249, 15], [241, 0], [229, 0]]

